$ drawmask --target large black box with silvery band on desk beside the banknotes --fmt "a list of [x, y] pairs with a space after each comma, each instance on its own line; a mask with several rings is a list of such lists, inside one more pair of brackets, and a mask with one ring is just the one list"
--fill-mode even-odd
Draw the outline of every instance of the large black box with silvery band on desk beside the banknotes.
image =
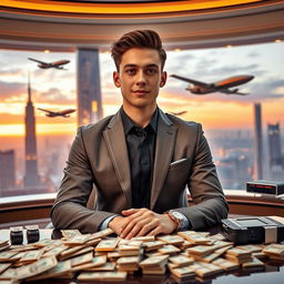
[[280, 243], [284, 241], [284, 224], [271, 217], [224, 219], [222, 234], [236, 244]]

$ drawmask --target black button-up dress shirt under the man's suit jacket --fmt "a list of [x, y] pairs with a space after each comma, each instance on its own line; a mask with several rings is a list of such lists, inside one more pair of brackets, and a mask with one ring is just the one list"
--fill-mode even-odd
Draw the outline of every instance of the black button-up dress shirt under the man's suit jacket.
[[121, 108], [131, 172], [132, 207], [150, 207], [159, 112], [145, 128], [138, 126]]

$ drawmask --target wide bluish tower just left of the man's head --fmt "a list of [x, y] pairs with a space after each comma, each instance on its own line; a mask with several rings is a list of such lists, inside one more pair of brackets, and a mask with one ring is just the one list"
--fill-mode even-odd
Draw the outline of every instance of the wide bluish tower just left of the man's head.
[[78, 124], [85, 125], [102, 118], [98, 49], [79, 49], [77, 70]]

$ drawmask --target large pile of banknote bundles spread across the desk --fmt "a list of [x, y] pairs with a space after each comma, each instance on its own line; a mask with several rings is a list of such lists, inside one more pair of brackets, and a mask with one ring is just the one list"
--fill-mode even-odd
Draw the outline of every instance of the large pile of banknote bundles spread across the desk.
[[93, 234], [62, 230], [61, 240], [10, 245], [0, 242], [0, 283], [44, 278], [125, 281], [128, 275], [163, 275], [186, 280], [234, 270], [261, 270], [262, 258], [284, 262], [284, 244], [234, 245], [221, 234], [113, 237], [106, 229]]

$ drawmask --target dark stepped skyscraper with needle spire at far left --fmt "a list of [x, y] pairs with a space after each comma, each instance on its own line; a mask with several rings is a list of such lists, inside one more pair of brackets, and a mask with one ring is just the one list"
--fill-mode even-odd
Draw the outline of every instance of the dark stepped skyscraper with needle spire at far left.
[[26, 105], [26, 174], [24, 186], [36, 187], [40, 185], [40, 176], [38, 174], [38, 156], [37, 156], [37, 138], [36, 138], [36, 118], [34, 108], [31, 101], [30, 73], [28, 82], [28, 102]]

